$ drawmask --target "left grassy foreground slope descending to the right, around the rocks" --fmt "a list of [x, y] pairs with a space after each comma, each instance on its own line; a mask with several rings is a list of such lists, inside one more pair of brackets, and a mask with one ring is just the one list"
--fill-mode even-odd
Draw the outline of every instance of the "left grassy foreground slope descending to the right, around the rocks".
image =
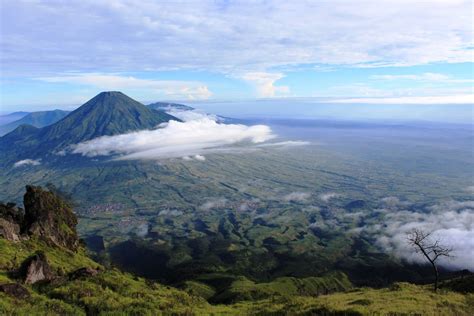
[[23, 286], [31, 297], [14, 298], [0, 292], [0, 315], [147, 315], [162, 312], [189, 314], [209, 308], [200, 297], [169, 288], [158, 283], [115, 269], [104, 269], [84, 253], [51, 247], [39, 240], [10, 242], [0, 238], [0, 284], [19, 282], [11, 273], [16, 262], [42, 251], [58, 276], [67, 275], [77, 268], [89, 267], [100, 272], [75, 280], [61, 279]]

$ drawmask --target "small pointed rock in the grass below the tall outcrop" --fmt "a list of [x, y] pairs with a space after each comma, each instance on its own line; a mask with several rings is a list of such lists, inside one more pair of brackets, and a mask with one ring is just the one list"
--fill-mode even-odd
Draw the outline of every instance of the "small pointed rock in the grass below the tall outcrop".
[[54, 278], [54, 273], [49, 266], [45, 254], [42, 252], [26, 259], [20, 268], [20, 274], [26, 284], [51, 281]]

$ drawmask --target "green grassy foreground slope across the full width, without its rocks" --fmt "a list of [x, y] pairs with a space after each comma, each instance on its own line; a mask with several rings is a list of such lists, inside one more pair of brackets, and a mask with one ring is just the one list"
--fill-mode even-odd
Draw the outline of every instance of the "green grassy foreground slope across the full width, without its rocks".
[[[38, 240], [13, 243], [0, 239], [0, 284], [17, 282], [11, 274], [16, 261], [43, 251], [58, 275], [78, 267], [101, 270], [95, 276], [47, 284], [24, 285], [31, 296], [13, 298], [0, 292], [2, 315], [472, 315], [474, 295], [447, 290], [433, 293], [430, 287], [397, 283], [386, 289], [360, 288], [317, 297], [277, 295], [231, 305], [211, 305], [204, 298], [146, 281], [116, 269], [105, 269], [83, 250], [72, 253]], [[278, 281], [277, 281], [278, 282]], [[281, 284], [281, 280], [279, 281]], [[245, 282], [241, 289], [258, 285]], [[260, 285], [271, 289], [271, 283]], [[276, 292], [276, 291], [275, 291]], [[244, 294], [242, 294], [244, 296]]]

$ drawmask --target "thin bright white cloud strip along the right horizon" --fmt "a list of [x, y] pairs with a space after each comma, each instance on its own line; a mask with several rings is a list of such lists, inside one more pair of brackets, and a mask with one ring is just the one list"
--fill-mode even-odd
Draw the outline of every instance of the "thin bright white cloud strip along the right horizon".
[[328, 100], [328, 103], [364, 104], [474, 104], [474, 94], [443, 96], [402, 96], [388, 98], [347, 98]]

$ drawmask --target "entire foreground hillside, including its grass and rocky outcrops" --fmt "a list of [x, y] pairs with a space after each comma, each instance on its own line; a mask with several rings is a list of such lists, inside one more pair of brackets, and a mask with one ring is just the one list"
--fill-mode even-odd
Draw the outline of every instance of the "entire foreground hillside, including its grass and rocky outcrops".
[[205, 300], [211, 287], [199, 281], [179, 290], [94, 262], [78, 244], [70, 206], [54, 193], [28, 186], [24, 202], [25, 210], [0, 205], [1, 314], [470, 315], [474, 308], [473, 294], [449, 290], [435, 294], [408, 283], [379, 290], [311, 293], [324, 282], [339, 287], [347, 282], [342, 274], [267, 284], [239, 278], [221, 292], [228, 297], [232, 291], [239, 298], [228, 305], [212, 305]]

